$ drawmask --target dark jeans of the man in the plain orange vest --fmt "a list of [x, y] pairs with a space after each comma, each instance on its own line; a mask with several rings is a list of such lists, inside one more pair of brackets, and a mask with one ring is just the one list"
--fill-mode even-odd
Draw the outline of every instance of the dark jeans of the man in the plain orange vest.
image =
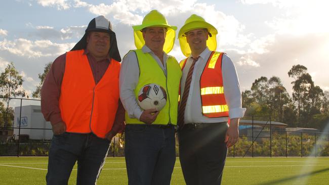
[[110, 142], [93, 133], [54, 135], [49, 149], [47, 184], [67, 184], [77, 161], [76, 184], [96, 184]]

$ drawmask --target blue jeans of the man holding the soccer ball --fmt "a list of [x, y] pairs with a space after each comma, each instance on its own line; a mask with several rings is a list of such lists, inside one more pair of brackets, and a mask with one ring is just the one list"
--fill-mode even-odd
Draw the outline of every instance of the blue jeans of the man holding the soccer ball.
[[125, 156], [129, 185], [169, 185], [175, 161], [174, 126], [126, 126]]

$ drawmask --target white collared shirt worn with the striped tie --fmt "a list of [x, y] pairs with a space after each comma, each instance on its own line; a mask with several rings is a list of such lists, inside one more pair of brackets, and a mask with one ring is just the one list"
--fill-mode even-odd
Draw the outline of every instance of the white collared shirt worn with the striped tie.
[[[200, 96], [200, 77], [202, 71], [207, 64], [207, 60], [210, 57], [211, 51], [206, 48], [199, 56], [196, 61], [190, 91], [186, 102], [184, 122], [185, 123], [218, 123], [228, 121], [227, 117], [223, 118], [209, 118], [202, 115], [201, 96]], [[186, 81], [187, 73], [191, 67], [193, 59], [191, 56], [187, 59], [185, 67], [183, 69], [183, 75], [181, 79], [181, 97], [184, 93], [184, 86]], [[222, 75], [223, 75], [223, 86], [226, 103], [229, 107], [229, 117], [241, 118], [244, 115], [245, 108], [241, 107], [242, 98], [239, 80], [236, 74], [235, 66], [232, 60], [227, 56], [223, 55], [222, 59]]]

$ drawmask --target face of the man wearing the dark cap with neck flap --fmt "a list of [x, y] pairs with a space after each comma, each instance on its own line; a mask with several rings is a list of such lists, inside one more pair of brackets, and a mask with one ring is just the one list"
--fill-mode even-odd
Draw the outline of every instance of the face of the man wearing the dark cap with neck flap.
[[106, 58], [110, 50], [110, 34], [90, 32], [87, 37], [87, 50], [97, 61]]

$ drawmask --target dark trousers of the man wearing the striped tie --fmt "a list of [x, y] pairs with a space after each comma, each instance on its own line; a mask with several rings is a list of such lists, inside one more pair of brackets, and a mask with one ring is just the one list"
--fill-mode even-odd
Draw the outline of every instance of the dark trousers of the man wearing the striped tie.
[[179, 130], [179, 159], [187, 185], [221, 184], [227, 128], [227, 123], [222, 122], [186, 124]]

